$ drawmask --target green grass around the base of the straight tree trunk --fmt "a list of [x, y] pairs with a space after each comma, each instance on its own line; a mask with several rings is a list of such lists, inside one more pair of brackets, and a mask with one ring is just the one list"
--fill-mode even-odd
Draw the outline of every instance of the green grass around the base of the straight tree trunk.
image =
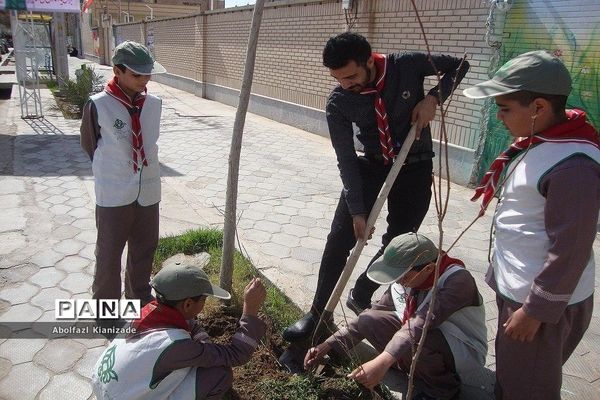
[[[192, 255], [207, 252], [210, 254], [210, 262], [204, 267], [204, 271], [213, 283], [219, 284], [222, 245], [223, 232], [217, 229], [196, 229], [181, 235], [161, 238], [154, 256], [154, 272], [160, 270], [160, 266], [167, 258], [177, 253]], [[230, 302], [230, 307], [234, 309], [234, 312], [241, 313], [244, 288], [255, 276], [261, 278], [267, 289], [263, 311], [271, 319], [275, 331], [282, 330], [302, 316], [302, 311], [262, 276], [252, 263], [238, 251], [235, 252], [233, 259], [232, 300]], [[216, 304], [218, 304], [216, 300], [209, 299], [205, 309], [208, 311]]]

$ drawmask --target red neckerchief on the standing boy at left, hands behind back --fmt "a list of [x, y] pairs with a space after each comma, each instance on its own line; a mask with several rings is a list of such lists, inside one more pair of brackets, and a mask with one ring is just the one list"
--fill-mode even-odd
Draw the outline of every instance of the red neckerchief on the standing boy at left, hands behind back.
[[[142, 107], [144, 106], [144, 101], [146, 100], [146, 93], [139, 93], [133, 103], [129, 96], [123, 92], [123, 89], [119, 86], [117, 82], [117, 77], [115, 76], [108, 84], [106, 88], [104, 88], [106, 93], [110, 96], [117, 99], [129, 112], [131, 116], [131, 145], [133, 148], [133, 172], [137, 173], [139, 167], [139, 162], [141, 160], [142, 165], [148, 166], [148, 161], [146, 160], [146, 153], [144, 152], [144, 138], [142, 136], [142, 125], [140, 123], [140, 114], [142, 113]], [[144, 90], [145, 91], [145, 90]]]

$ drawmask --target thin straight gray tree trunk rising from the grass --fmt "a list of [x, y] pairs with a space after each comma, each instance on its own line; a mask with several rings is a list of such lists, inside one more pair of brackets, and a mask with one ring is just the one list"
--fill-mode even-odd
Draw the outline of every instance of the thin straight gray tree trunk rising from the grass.
[[264, 3], [264, 0], [257, 0], [254, 5], [250, 37], [248, 39], [248, 49], [246, 51], [246, 67], [244, 69], [240, 99], [235, 114], [235, 122], [233, 124], [231, 149], [229, 150], [229, 172], [227, 174], [227, 197], [225, 200], [225, 221], [223, 228], [223, 257], [219, 277], [220, 286], [225, 290], [231, 290], [231, 280], [233, 276], [240, 153], [242, 150], [242, 136], [244, 134], [244, 123], [246, 122], [246, 112], [250, 100], [250, 89], [252, 88], [256, 47], [258, 44], [258, 33], [262, 21]]

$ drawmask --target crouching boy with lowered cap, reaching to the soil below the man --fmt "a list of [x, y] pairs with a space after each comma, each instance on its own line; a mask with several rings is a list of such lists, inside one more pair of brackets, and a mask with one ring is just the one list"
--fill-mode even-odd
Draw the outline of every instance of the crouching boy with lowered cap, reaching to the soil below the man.
[[[437, 257], [436, 246], [423, 235], [392, 239], [367, 271], [373, 282], [391, 284], [388, 290], [346, 328], [308, 350], [304, 367], [314, 367], [331, 349], [343, 354], [366, 338], [381, 354], [349, 377], [373, 388], [392, 366], [408, 373], [430, 307]], [[483, 301], [464, 263], [443, 253], [437, 287], [435, 317], [416, 366], [415, 400], [456, 398], [460, 375], [482, 367], [487, 354]]]

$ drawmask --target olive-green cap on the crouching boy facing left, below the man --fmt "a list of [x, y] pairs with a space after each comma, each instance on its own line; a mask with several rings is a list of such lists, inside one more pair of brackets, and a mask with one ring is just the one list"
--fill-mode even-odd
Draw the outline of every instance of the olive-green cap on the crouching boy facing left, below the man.
[[410, 267], [436, 260], [438, 249], [433, 242], [418, 233], [396, 236], [385, 248], [383, 257], [367, 270], [367, 277], [380, 285], [395, 282]]

